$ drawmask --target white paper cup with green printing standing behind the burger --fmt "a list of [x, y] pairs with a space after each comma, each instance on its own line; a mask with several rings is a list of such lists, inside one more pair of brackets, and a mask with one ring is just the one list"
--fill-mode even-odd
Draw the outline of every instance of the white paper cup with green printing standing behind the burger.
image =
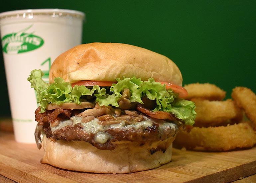
[[84, 13], [64, 9], [17, 10], [0, 13], [0, 33], [15, 140], [35, 143], [38, 107], [27, 78], [41, 69], [48, 82], [57, 56], [81, 44]]

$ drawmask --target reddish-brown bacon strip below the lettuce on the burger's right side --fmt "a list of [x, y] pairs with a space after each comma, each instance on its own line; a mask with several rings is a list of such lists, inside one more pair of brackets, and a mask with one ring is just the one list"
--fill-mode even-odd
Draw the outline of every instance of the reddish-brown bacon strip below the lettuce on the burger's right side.
[[144, 108], [142, 104], [137, 105], [137, 110], [152, 117], [152, 118], [156, 118], [156, 119], [169, 119], [171, 121], [178, 119], [175, 116], [172, 116], [172, 114], [170, 114], [169, 112], [164, 112], [164, 111], [152, 112], [152, 111]]

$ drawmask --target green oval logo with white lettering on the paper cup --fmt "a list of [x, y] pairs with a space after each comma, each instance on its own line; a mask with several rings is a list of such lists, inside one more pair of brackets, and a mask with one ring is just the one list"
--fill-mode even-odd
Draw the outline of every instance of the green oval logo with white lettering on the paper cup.
[[33, 24], [23, 30], [3, 36], [3, 52], [7, 54], [19, 54], [41, 47], [44, 44], [44, 40], [35, 35], [34, 32], [28, 32], [32, 26]]

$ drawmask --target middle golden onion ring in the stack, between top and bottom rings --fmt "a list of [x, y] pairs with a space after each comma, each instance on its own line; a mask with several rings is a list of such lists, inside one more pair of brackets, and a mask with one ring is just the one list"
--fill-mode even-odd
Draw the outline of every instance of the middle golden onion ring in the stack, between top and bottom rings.
[[226, 126], [230, 122], [238, 122], [243, 118], [242, 110], [231, 99], [209, 101], [194, 98], [192, 101], [196, 106], [194, 126]]

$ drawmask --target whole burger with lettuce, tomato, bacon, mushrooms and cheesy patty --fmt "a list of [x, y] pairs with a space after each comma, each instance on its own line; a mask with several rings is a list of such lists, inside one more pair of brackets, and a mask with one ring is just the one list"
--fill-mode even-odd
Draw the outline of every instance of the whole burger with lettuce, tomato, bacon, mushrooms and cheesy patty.
[[39, 107], [35, 139], [42, 163], [59, 168], [130, 173], [171, 161], [180, 127], [193, 125], [182, 75], [161, 54], [121, 43], [88, 43], [28, 78]]

